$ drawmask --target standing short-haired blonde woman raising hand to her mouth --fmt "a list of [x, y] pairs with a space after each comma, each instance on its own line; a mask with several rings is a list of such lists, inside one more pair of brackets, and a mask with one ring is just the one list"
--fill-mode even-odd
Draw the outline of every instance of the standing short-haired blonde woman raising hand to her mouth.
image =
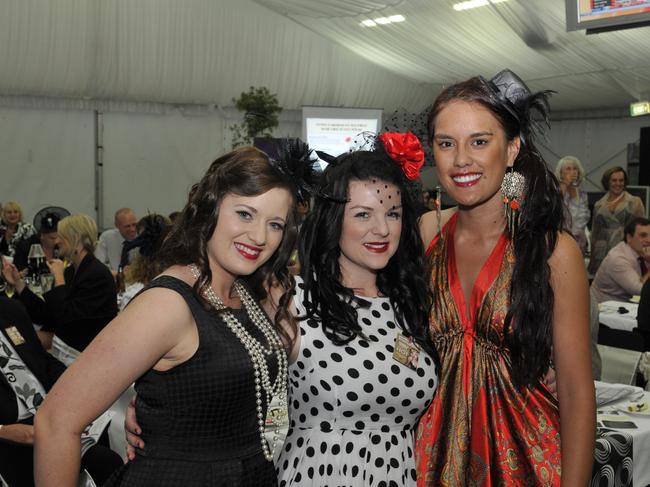
[[564, 156], [557, 162], [555, 175], [560, 181], [560, 191], [564, 200], [565, 228], [576, 239], [582, 255], [587, 253], [587, 235], [585, 229], [589, 223], [589, 201], [587, 193], [580, 189], [585, 177], [585, 170], [580, 159]]

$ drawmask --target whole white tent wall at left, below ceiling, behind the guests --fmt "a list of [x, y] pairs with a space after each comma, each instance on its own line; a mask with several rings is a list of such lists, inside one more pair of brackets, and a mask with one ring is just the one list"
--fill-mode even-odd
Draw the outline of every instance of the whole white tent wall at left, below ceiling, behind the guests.
[[[151, 106], [147, 112], [0, 107], [0, 202], [16, 200], [27, 220], [48, 205], [87, 213], [100, 228], [117, 208], [139, 216], [183, 207], [189, 188], [231, 148], [235, 110]], [[277, 136], [299, 137], [299, 110], [280, 117]], [[102, 147], [97, 166], [96, 144]], [[96, 184], [97, 181], [97, 184]]]

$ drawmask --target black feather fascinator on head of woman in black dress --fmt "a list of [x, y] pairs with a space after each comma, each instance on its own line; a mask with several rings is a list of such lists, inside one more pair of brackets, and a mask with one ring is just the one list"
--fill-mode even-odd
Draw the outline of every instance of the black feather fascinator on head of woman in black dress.
[[280, 139], [276, 148], [271, 165], [291, 184], [299, 202], [308, 201], [318, 184], [318, 156], [298, 138]]

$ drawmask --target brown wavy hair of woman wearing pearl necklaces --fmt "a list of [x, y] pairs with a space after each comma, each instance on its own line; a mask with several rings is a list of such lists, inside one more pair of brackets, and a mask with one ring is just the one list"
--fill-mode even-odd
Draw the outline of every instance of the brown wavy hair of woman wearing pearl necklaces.
[[283, 286], [285, 293], [280, 299], [274, 323], [278, 332], [290, 342], [280, 323], [285, 320], [295, 329], [295, 321], [288, 310], [293, 279], [289, 278], [287, 264], [296, 244], [296, 199], [293, 182], [274, 167], [264, 152], [254, 147], [243, 147], [215, 160], [201, 181], [190, 190], [187, 204], [163, 242], [159, 255], [163, 267], [192, 263], [198, 266], [201, 277], [194, 284], [194, 292], [206, 309], [210, 309], [203, 297], [212, 281], [207, 244], [217, 226], [223, 198], [227, 194], [258, 196], [274, 188], [286, 189], [293, 199], [282, 241], [264, 265], [241, 278], [259, 300], [266, 298], [266, 290], [276, 281]]

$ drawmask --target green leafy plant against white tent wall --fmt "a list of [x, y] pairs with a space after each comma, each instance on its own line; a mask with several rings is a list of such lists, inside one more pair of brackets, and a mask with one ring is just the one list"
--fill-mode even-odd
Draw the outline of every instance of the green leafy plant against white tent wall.
[[251, 86], [232, 101], [238, 110], [244, 112], [244, 121], [230, 126], [233, 149], [251, 145], [255, 137], [272, 136], [271, 131], [278, 126], [278, 115], [282, 111], [275, 93], [264, 86]]

